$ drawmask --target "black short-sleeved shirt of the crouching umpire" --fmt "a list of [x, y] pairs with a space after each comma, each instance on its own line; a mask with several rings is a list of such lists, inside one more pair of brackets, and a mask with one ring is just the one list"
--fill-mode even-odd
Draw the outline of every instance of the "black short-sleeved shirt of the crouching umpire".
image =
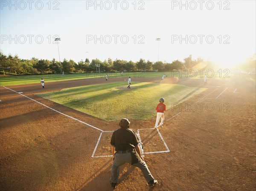
[[110, 143], [116, 151], [126, 151], [139, 144], [134, 130], [130, 128], [119, 128], [114, 131]]

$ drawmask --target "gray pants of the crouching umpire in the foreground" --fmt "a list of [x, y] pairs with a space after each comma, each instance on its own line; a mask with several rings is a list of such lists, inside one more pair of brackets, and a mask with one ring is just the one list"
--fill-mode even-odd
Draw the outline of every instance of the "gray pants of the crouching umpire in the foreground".
[[[110, 182], [117, 183], [118, 177], [119, 177], [119, 166], [129, 163], [131, 164], [131, 153], [115, 153], [115, 158], [112, 164], [112, 172], [111, 172], [111, 178]], [[150, 182], [151, 180], [154, 180], [154, 177], [151, 175], [150, 171], [148, 170], [148, 166], [146, 165], [145, 161], [141, 160], [135, 164], [134, 166], [137, 166], [140, 168], [145, 180], [147, 182]]]

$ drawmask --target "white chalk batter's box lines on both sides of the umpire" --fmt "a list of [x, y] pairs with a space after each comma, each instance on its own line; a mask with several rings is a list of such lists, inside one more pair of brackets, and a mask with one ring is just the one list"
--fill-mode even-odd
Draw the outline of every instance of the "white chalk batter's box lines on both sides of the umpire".
[[[145, 152], [145, 153], [143, 153], [143, 154], [156, 154], [156, 153], [166, 153], [166, 152], [170, 152], [170, 150], [169, 150], [169, 148], [168, 148], [166, 142], [163, 140], [163, 137], [162, 137], [160, 131], [158, 130], [158, 128], [157, 128], [157, 129], [155, 129], [155, 128], [143, 128], [143, 129], [138, 129], [137, 132], [138, 132], [138, 134], [139, 134], [139, 141], [141, 142], [141, 139], [140, 139], [140, 131], [142, 131], [142, 130], [153, 130], [153, 129], [154, 129], [154, 130], [157, 130], [157, 133], [159, 134], [159, 136], [160, 136], [161, 140], [163, 141], [163, 144], [165, 145], [165, 147], [166, 147], [167, 150], [166, 150], [166, 151]], [[93, 157], [93, 158], [112, 157], [112, 155], [94, 156], [94, 154], [96, 153], [97, 147], [98, 147], [98, 145], [99, 145], [99, 141], [100, 141], [100, 139], [101, 139], [101, 137], [102, 137], [102, 133], [106, 133], [106, 132], [114, 132], [114, 131], [102, 131], [102, 132], [100, 133], [99, 139], [98, 139], [98, 141], [97, 141], [97, 143], [96, 143], [96, 146], [95, 146], [95, 148], [94, 148], [94, 150], [93, 150], [93, 154], [92, 154], [91, 157]]]

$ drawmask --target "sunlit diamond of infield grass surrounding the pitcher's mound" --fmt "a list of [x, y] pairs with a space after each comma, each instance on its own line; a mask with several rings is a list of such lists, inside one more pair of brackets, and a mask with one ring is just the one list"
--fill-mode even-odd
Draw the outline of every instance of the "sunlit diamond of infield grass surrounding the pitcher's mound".
[[206, 88], [140, 82], [133, 82], [128, 89], [127, 83], [116, 82], [37, 95], [102, 120], [117, 121], [124, 117], [148, 120], [156, 115], [160, 97], [165, 98], [167, 109], [170, 109], [172, 104], [184, 102], [204, 90]]

